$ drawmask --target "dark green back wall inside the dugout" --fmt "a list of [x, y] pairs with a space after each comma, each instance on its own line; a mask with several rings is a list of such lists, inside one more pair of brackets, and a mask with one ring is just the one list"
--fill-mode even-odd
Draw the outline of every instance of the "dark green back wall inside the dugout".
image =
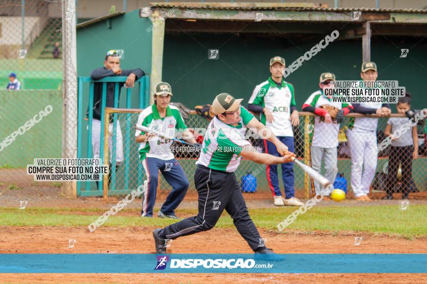
[[[268, 78], [269, 59], [280, 55], [287, 64], [318, 43], [291, 44], [285, 38], [254, 38], [231, 34], [172, 34], [164, 42], [163, 80], [172, 84], [174, 101], [189, 107], [211, 104], [215, 95], [229, 92], [244, 98]], [[392, 39], [396, 41], [395, 38]], [[396, 41], [397, 42], [397, 41]], [[398, 45], [398, 47], [396, 47]], [[413, 105], [427, 106], [427, 44], [420, 42], [372, 43], [372, 60], [379, 68], [378, 80], [398, 80], [413, 95]], [[415, 46], [414, 46], [415, 45]], [[413, 47], [412, 47], [413, 46]], [[208, 60], [208, 49], [219, 47], [219, 60]], [[399, 48], [411, 48], [407, 58], [399, 58]], [[333, 42], [309, 61], [304, 61], [286, 81], [294, 84], [296, 103], [301, 109], [309, 95], [318, 89], [319, 76], [330, 71], [341, 80], [360, 79], [361, 41]]]

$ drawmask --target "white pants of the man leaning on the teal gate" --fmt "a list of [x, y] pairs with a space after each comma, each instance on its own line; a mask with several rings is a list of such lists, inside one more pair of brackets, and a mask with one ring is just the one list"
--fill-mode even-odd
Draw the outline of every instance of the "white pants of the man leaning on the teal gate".
[[[108, 139], [108, 149], [110, 149], [110, 163], [112, 161], [112, 148], [113, 148], [113, 123], [110, 123], [109, 128], [109, 139]], [[104, 143], [103, 140], [100, 139], [101, 135], [101, 121], [100, 120], [92, 120], [92, 149], [94, 158], [99, 158], [99, 148], [100, 142]], [[122, 131], [120, 128], [120, 121], [117, 120], [117, 134], [115, 135], [115, 162], [116, 165], [119, 165], [123, 162], [123, 138]]]

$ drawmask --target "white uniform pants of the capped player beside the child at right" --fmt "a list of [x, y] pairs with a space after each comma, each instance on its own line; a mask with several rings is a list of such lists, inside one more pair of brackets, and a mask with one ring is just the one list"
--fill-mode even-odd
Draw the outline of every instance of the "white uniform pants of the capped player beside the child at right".
[[347, 130], [351, 152], [351, 187], [354, 196], [369, 194], [377, 170], [377, 133]]

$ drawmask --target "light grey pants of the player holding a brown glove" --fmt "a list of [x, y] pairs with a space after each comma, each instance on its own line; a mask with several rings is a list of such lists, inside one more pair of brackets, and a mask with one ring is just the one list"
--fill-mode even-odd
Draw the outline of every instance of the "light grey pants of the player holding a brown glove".
[[[311, 156], [312, 156], [312, 168], [320, 173], [322, 168], [322, 160], [325, 161], [325, 178], [329, 179], [331, 182], [335, 181], [337, 176], [337, 147], [334, 148], [321, 148], [316, 146], [311, 146]], [[316, 194], [320, 194], [320, 184], [314, 180], [314, 190]], [[325, 187], [322, 186], [322, 190], [325, 190]], [[329, 195], [329, 193], [325, 194]]]

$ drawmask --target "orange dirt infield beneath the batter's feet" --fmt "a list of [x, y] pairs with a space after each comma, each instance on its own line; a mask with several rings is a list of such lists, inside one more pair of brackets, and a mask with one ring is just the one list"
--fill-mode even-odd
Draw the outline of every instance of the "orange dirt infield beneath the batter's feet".
[[[154, 253], [153, 228], [100, 227], [90, 233], [83, 227], [0, 227], [0, 253]], [[426, 253], [426, 239], [397, 239], [359, 234], [277, 234], [261, 232], [267, 246], [282, 254]], [[67, 248], [68, 239], [76, 239]], [[219, 229], [176, 239], [169, 253], [251, 253], [235, 229]], [[301, 264], [302, 266], [304, 264]], [[19, 283], [425, 283], [427, 274], [3, 274], [2, 282]]]

